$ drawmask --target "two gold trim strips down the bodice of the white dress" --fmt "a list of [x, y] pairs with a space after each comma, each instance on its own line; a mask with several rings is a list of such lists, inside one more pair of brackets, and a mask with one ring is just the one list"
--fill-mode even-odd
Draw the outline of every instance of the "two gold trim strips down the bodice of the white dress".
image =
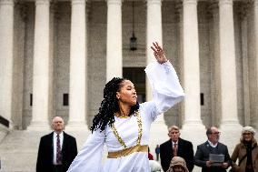
[[[135, 112], [135, 116], [137, 117], [137, 124], [138, 124], [138, 139], [137, 139], [137, 145], [140, 145], [141, 143], [141, 139], [142, 139], [142, 136], [143, 136], [143, 124], [142, 124], [142, 119], [141, 119], [141, 116], [140, 116], [140, 112], [139, 110], [137, 110]], [[122, 137], [119, 136], [115, 126], [114, 126], [114, 123], [111, 125], [111, 128], [113, 130], [113, 133], [114, 133], [114, 136], [118, 139], [119, 143], [124, 147], [124, 148], [127, 148], [127, 146], [125, 145], [124, 143], [124, 140], [122, 139]]]

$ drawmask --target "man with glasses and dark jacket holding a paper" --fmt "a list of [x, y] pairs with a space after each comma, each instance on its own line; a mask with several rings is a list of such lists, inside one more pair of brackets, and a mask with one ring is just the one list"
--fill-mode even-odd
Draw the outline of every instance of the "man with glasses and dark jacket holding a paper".
[[[194, 164], [202, 167], [202, 172], [226, 172], [226, 168], [230, 166], [231, 160], [227, 147], [219, 142], [220, 132], [218, 128], [215, 126], [207, 128], [206, 135], [208, 140], [202, 145], [197, 146]], [[216, 160], [217, 162], [211, 159], [214, 155], [223, 155], [222, 162], [219, 160], [220, 157]]]

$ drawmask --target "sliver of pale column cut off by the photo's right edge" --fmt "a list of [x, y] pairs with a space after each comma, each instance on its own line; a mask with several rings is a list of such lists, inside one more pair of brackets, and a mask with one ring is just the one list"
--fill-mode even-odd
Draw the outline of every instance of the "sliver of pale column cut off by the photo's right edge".
[[255, 59], [255, 71], [256, 71], [256, 78], [255, 78], [255, 85], [256, 90], [254, 91], [254, 119], [256, 121], [253, 121], [255, 123], [256, 128], [258, 128], [258, 0], [253, 1], [253, 24], [254, 24], [254, 59]]

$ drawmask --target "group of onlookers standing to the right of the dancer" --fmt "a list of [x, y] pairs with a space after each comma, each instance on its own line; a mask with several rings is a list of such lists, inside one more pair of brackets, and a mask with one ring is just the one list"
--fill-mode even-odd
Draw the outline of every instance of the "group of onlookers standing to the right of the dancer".
[[[152, 171], [191, 172], [193, 167], [202, 167], [202, 172], [258, 172], [258, 147], [252, 126], [244, 126], [242, 137], [230, 157], [227, 146], [219, 142], [220, 132], [211, 126], [206, 130], [207, 141], [197, 146], [193, 155], [193, 144], [180, 137], [178, 126], [168, 129], [170, 139], [155, 148], [156, 161], [150, 160]], [[149, 156], [151, 157], [151, 156]]]

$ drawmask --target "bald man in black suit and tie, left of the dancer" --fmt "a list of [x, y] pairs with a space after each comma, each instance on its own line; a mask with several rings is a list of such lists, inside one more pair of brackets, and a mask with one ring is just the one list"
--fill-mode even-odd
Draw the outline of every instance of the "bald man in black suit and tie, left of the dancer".
[[54, 132], [40, 139], [36, 172], [65, 172], [77, 155], [75, 138], [63, 131], [64, 120], [55, 116], [52, 126]]

